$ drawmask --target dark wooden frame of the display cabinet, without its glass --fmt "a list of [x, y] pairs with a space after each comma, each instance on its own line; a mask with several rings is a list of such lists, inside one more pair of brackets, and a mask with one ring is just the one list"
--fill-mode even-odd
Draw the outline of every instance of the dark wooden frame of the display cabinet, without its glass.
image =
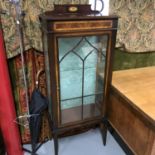
[[[112, 57], [115, 46], [118, 17], [102, 16], [98, 12], [91, 11], [90, 6], [86, 6], [86, 10], [83, 6], [77, 6], [78, 11], [74, 13], [68, 12], [68, 5], [55, 7], [55, 11], [45, 12], [40, 15], [40, 20], [42, 23], [44, 51], [46, 57], [46, 74], [49, 75], [47, 79], [47, 81], [49, 81], [47, 85], [50, 99], [49, 111], [51, 111], [55, 153], [57, 155], [58, 136], [68, 135], [70, 131], [72, 131], [72, 134], [75, 134], [79, 131], [84, 131], [96, 125], [100, 125], [102, 123], [102, 117], [106, 115], [105, 103], [107, 102], [109, 86], [111, 83]], [[63, 7], [62, 12], [60, 11], [61, 7]], [[73, 7], [76, 6], [73, 5]], [[101, 112], [100, 115], [97, 116], [96, 114], [98, 114], [99, 111], [94, 110], [95, 108], [89, 104], [84, 106], [84, 119], [79, 120], [81, 117], [78, 115], [80, 107], [69, 108], [62, 111], [60, 109], [60, 73], [58, 64], [59, 48], [57, 39], [60, 37], [85, 37], [93, 35], [108, 36], [104, 73], [104, 100], [99, 109]], [[61, 119], [62, 116], [64, 116], [63, 119]], [[87, 116], [90, 117], [87, 118]], [[72, 121], [70, 121], [70, 119], [72, 119]], [[103, 128], [101, 129], [101, 131], [105, 131]]]

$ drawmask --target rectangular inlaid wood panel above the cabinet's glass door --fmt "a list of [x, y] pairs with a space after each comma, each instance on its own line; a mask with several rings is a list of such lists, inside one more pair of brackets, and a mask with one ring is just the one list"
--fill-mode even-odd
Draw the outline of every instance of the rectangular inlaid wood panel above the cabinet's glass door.
[[56, 32], [96, 30], [106, 28], [112, 28], [112, 20], [54, 22], [53, 25], [53, 29]]

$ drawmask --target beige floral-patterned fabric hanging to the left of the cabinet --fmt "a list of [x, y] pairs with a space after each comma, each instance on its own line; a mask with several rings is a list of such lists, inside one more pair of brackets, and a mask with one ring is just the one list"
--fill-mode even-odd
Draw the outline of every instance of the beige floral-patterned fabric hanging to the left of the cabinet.
[[[52, 10], [54, 4], [86, 4], [87, 2], [88, 0], [21, 0], [20, 5], [25, 12], [23, 20], [25, 50], [33, 47], [42, 51], [39, 14]], [[1, 20], [7, 57], [12, 58], [20, 52], [19, 36], [15, 22], [15, 8], [10, 5], [9, 0], [1, 0], [0, 10], [9, 12], [9, 14], [1, 15]]]

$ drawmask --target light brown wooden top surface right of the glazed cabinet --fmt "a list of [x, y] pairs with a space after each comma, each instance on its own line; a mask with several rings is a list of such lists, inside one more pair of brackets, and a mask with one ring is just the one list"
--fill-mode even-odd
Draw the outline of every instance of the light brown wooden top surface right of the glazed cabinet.
[[115, 71], [112, 85], [155, 121], [155, 66]]

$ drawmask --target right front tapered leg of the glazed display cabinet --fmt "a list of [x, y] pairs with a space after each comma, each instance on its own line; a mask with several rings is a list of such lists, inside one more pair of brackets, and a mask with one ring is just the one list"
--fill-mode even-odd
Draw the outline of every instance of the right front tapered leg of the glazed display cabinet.
[[100, 124], [100, 130], [101, 130], [101, 134], [102, 134], [103, 145], [106, 145], [106, 141], [107, 141], [107, 125], [106, 125], [106, 121], [103, 121]]

